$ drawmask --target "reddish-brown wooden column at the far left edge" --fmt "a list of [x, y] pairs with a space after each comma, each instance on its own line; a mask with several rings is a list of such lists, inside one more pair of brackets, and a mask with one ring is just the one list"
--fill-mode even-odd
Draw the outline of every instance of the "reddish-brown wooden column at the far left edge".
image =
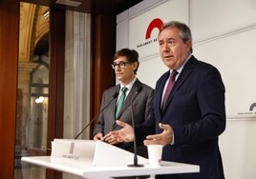
[[19, 1], [0, 1], [0, 178], [13, 178]]

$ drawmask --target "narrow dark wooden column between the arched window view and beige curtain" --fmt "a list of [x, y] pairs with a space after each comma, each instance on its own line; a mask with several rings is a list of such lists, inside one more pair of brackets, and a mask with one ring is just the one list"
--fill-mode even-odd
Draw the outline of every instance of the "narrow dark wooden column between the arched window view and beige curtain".
[[[63, 138], [65, 10], [50, 10], [50, 74], [47, 148], [54, 138]], [[50, 154], [50, 152], [48, 152]], [[62, 178], [62, 173], [47, 169], [47, 178]]]

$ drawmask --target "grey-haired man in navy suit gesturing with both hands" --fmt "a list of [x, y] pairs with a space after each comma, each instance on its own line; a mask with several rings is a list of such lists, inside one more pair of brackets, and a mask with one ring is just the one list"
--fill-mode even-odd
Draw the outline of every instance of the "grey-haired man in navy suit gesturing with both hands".
[[[177, 21], [164, 24], [159, 33], [160, 57], [169, 68], [155, 89], [150, 118], [135, 129], [144, 145], [163, 145], [162, 160], [195, 164], [199, 173], [159, 175], [160, 179], [224, 179], [219, 135], [225, 129], [224, 83], [219, 70], [192, 55], [189, 28]], [[169, 76], [178, 71], [174, 85], [162, 104]], [[170, 80], [171, 81], [171, 80]], [[109, 135], [133, 141], [131, 126]], [[155, 134], [154, 134], [155, 133]]]

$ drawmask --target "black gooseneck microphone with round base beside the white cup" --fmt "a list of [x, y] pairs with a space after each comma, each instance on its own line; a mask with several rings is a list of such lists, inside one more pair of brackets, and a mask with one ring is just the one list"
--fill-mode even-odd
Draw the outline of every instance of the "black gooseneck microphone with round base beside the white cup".
[[135, 98], [138, 96], [139, 92], [141, 91], [142, 87], [139, 86], [137, 89], [135, 95], [133, 96], [131, 100], [131, 114], [132, 114], [132, 127], [134, 129], [134, 164], [128, 165], [128, 167], [133, 167], [133, 168], [141, 168], [143, 165], [138, 164], [138, 155], [137, 155], [137, 144], [136, 144], [136, 134], [135, 134], [135, 119], [134, 119], [134, 109], [133, 109], [133, 102]]

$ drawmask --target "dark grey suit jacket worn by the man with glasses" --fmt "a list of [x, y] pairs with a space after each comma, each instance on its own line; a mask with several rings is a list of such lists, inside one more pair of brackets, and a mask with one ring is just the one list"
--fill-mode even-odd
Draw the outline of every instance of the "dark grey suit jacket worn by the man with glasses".
[[[142, 87], [137, 96], [135, 96], [136, 91]], [[104, 108], [107, 103], [111, 100], [113, 94], [116, 91], [119, 91], [120, 85], [112, 87], [110, 89], [106, 89], [103, 92], [101, 108]], [[133, 101], [133, 115], [135, 119], [135, 125], [139, 125], [143, 123], [150, 114], [151, 109], [153, 108], [153, 94], [154, 89], [149, 86], [142, 84], [139, 79], [134, 83], [133, 88], [129, 92], [128, 96], [125, 98], [122, 108], [119, 111], [117, 118], [120, 121], [128, 123], [132, 125], [132, 110], [131, 110], [131, 101]], [[115, 119], [115, 109], [117, 104], [117, 98], [114, 99], [109, 106], [104, 109], [98, 116], [96, 127], [94, 129], [94, 135], [96, 133], [101, 132], [104, 135], [109, 133], [110, 131], [120, 129], [116, 124]], [[129, 151], [134, 151], [133, 143], [121, 143], [117, 145], [117, 147], [126, 149]], [[140, 142], [137, 146], [138, 154], [144, 157], [147, 157], [147, 149], [144, 147], [143, 143]]]

